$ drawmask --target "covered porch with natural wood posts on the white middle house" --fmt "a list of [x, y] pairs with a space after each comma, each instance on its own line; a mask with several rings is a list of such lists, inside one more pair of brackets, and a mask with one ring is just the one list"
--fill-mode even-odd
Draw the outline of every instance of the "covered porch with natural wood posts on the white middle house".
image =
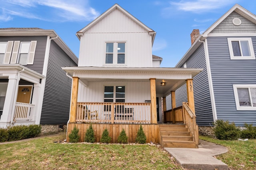
[[[78, 127], [80, 141], [84, 141], [84, 133], [92, 124], [96, 141], [100, 141], [104, 129], [108, 129], [111, 142], [124, 129], [128, 142], [135, 143], [137, 131], [142, 125], [147, 142], [163, 144], [160, 133], [163, 123], [168, 117], [175, 117], [168, 123], [179, 123], [191, 131], [193, 140], [198, 145], [198, 129], [194, 113], [194, 97], [192, 78], [201, 69], [190, 68], [63, 68], [73, 78], [70, 119], [67, 129], [71, 133]], [[164, 86], [162, 84], [164, 82]], [[175, 92], [183, 84], [187, 86], [188, 102], [181, 107], [180, 113], [173, 116], [166, 113], [165, 96]], [[122, 102], [106, 102], [108, 93], [106, 86], [125, 87]], [[174, 95], [174, 96], [173, 96]], [[175, 98], [175, 93], [172, 94]], [[158, 98], [158, 100], [157, 100]], [[133, 102], [132, 102], [133, 101]], [[175, 100], [173, 100], [175, 103]], [[173, 110], [176, 106], [172, 105]], [[177, 121], [173, 121], [176, 120]], [[170, 125], [170, 124], [166, 124]], [[197, 141], [197, 142], [196, 142]]]

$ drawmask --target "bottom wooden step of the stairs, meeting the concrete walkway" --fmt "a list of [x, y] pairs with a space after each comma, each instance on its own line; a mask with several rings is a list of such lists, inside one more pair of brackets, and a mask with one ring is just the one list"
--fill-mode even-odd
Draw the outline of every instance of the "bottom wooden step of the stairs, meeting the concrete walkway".
[[195, 148], [194, 141], [162, 141], [164, 148]]

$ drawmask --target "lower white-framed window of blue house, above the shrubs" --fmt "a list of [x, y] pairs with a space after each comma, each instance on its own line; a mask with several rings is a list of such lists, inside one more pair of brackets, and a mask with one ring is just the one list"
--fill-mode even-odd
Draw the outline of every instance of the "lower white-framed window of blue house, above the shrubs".
[[237, 110], [256, 110], [256, 84], [234, 84]]

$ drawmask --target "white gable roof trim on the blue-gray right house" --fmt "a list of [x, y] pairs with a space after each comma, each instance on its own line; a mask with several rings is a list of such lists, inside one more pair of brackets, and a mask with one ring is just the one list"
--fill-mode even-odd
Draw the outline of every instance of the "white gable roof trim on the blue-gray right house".
[[211, 33], [222, 21], [224, 21], [230, 14], [236, 12], [240, 16], [244, 17], [248, 21], [256, 24], [256, 16], [244, 9], [242, 6], [235, 4], [228, 12], [226, 12], [222, 17], [220, 17], [215, 23], [213, 23], [203, 34], [202, 37], [207, 37], [209, 33]]

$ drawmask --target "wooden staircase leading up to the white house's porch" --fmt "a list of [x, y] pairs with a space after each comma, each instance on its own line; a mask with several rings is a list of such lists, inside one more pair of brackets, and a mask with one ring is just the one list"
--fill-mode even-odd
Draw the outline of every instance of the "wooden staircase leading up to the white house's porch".
[[192, 133], [184, 124], [159, 125], [159, 133], [163, 148], [197, 148]]

